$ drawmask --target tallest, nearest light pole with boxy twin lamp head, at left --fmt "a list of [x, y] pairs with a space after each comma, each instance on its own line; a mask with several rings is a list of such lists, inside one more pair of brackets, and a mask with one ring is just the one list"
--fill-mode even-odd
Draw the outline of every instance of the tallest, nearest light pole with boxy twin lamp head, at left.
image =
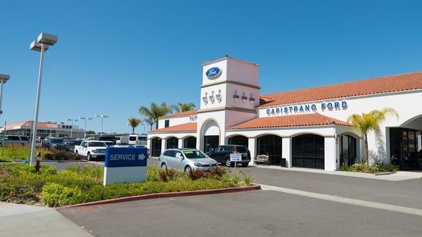
[[41, 96], [41, 79], [42, 79], [42, 67], [44, 64], [44, 53], [49, 46], [56, 44], [57, 36], [53, 34], [41, 33], [37, 37], [37, 41], [32, 41], [30, 44], [30, 49], [34, 51], [39, 51], [39, 71], [38, 71], [38, 83], [37, 83], [37, 99], [35, 102], [35, 115], [34, 115], [34, 124], [32, 124], [32, 143], [31, 143], [31, 154], [30, 154], [30, 165], [32, 165], [32, 160], [35, 153], [35, 139], [37, 139], [37, 122], [38, 122], [38, 112], [39, 112], [39, 96]]

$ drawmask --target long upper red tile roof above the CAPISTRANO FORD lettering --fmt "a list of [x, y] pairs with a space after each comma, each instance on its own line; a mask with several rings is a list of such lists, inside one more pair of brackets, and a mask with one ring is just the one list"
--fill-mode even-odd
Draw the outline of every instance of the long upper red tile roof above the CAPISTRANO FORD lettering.
[[422, 89], [422, 72], [377, 77], [260, 96], [260, 107]]

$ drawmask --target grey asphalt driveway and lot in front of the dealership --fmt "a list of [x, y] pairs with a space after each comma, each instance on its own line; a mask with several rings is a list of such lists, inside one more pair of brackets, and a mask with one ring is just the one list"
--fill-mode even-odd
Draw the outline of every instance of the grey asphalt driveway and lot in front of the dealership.
[[[157, 159], [148, 160], [148, 165], [156, 163]], [[420, 236], [422, 191], [416, 187], [421, 179], [384, 181], [259, 167], [241, 172], [274, 190], [140, 200], [60, 212], [94, 236]], [[328, 200], [276, 187], [323, 194]], [[403, 213], [404, 207], [411, 214]]]

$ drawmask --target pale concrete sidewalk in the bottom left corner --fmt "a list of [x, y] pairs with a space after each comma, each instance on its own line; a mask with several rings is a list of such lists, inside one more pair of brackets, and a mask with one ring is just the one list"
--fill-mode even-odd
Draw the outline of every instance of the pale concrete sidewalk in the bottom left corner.
[[50, 207], [0, 202], [0, 236], [91, 237]]

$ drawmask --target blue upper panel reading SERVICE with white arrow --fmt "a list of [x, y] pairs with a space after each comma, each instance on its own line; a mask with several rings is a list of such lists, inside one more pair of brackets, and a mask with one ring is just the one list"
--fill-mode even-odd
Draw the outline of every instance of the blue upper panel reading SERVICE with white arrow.
[[113, 147], [106, 148], [104, 167], [146, 166], [148, 153], [146, 147]]

